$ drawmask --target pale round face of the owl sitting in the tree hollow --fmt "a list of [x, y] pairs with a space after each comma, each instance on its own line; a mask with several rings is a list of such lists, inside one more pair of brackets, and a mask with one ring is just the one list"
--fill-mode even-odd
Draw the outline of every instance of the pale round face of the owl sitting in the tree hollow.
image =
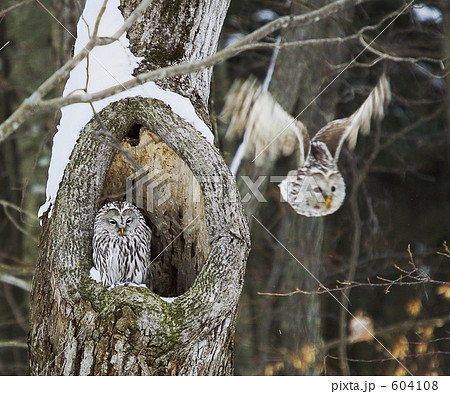
[[99, 223], [111, 236], [127, 236], [133, 234], [139, 225], [139, 218], [134, 207], [124, 203], [110, 207], [98, 217]]

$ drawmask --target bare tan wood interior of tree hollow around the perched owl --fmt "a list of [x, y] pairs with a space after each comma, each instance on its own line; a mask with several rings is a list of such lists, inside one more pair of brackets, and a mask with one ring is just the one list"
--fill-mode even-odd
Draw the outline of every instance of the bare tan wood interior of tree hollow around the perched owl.
[[193, 284], [208, 256], [200, 186], [188, 165], [156, 134], [133, 125], [107, 173], [105, 201], [136, 205], [152, 230], [153, 291], [179, 296]]

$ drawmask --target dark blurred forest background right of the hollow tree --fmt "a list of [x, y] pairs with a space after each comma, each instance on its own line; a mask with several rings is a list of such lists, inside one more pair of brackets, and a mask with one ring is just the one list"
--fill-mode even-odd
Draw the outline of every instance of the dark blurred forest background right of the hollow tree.
[[[224, 45], [260, 26], [264, 18], [299, 14], [325, 3], [234, 2]], [[372, 1], [320, 23], [288, 26], [272, 36], [272, 43], [281, 44], [278, 55], [273, 48], [248, 51], [215, 69], [220, 111], [220, 100], [235, 79], [254, 75], [263, 82], [276, 56], [269, 91], [313, 134], [326, 122], [350, 115], [383, 72], [393, 90], [385, 120], [359, 138], [354, 152], [346, 149], [341, 156], [339, 167], [348, 190], [339, 211], [325, 218], [297, 216], [279, 203], [277, 185], [268, 180], [259, 188], [268, 202], [247, 204], [253, 247], [238, 321], [237, 373], [450, 371], [445, 362], [450, 350], [449, 261], [436, 253], [445, 250], [450, 218], [450, 10], [444, 2], [429, 1], [427, 7], [416, 4], [417, 8], [408, 3]], [[429, 17], [423, 20], [424, 15]], [[360, 38], [287, 44], [355, 34]], [[365, 49], [375, 38], [374, 50]], [[219, 122], [220, 135], [226, 129]], [[224, 143], [230, 162], [238, 143]], [[242, 163], [238, 180], [244, 174], [253, 181], [261, 175], [285, 175], [297, 163], [288, 158], [257, 168], [252, 159]], [[245, 195], [249, 189], [241, 184]], [[415, 268], [419, 280], [447, 284], [392, 285], [387, 292], [387, 281]], [[347, 282], [382, 286], [356, 286], [345, 294], [341, 290], [333, 293], [335, 299], [311, 274], [330, 289]], [[280, 296], [296, 289], [310, 294]], [[380, 343], [370, 335], [358, 336], [358, 325], [355, 328], [344, 307], [366, 322]]]

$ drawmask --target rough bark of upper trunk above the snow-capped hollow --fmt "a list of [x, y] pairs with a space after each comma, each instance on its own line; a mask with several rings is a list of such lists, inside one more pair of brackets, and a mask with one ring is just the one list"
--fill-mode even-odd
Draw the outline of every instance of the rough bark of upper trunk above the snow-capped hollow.
[[[122, 0], [128, 17], [137, 0]], [[219, 34], [230, 0], [155, 0], [144, 16], [129, 30], [130, 49], [144, 56], [138, 72], [201, 60], [216, 52]], [[188, 97], [199, 116], [209, 124], [208, 99], [211, 68], [167, 78], [158, 82], [165, 89]]]

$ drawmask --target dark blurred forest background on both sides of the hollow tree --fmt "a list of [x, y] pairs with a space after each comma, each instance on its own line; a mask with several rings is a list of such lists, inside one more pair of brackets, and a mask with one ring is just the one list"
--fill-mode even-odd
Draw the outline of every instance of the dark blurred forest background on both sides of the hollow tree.
[[[328, 3], [232, 1], [222, 47], [278, 16]], [[235, 80], [253, 75], [266, 81], [283, 108], [313, 133], [351, 114], [383, 72], [393, 91], [382, 123], [358, 139], [355, 151], [341, 154], [347, 197], [339, 211], [300, 217], [279, 202], [277, 184], [268, 178], [259, 187], [268, 202], [247, 203], [252, 252], [237, 322], [236, 374], [450, 373], [450, 253], [444, 246], [450, 241], [450, 4], [422, 3], [426, 7], [374, 0], [320, 23], [290, 24], [266, 40], [279, 43], [279, 50], [255, 48], [215, 66], [211, 112], [228, 163], [240, 141], [225, 140], [227, 124], [219, 114]], [[0, 1], [2, 121], [70, 58], [82, 8], [77, 0]], [[348, 38], [330, 39], [335, 37]], [[289, 44], [325, 38], [330, 40]], [[45, 199], [57, 122], [55, 113], [34, 116], [0, 145], [3, 375], [26, 372], [36, 212]], [[253, 182], [284, 176], [296, 168], [295, 156], [259, 167], [245, 160], [238, 173], [241, 195], [249, 192], [241, 175]], [[336, 290], [346, 283], [352, 285]], [[359, 332], [352, 315], [379, 342]]]

